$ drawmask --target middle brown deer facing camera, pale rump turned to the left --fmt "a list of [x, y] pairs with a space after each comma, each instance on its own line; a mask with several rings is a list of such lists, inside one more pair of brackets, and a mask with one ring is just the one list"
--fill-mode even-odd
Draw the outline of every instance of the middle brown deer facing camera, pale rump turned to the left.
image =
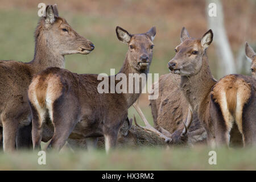
[[[145, 34], [131, 35], [121, 27], [117, 37], [129, 46], [120, 73], [141, 75], [149, 71], [156, 30], [152, 27]], [[98, 75], [69, 72], [60, 68], [48, 68], [33, 78], [28, 89], [32, 111], [32, 141], [40, 146], [47, 115], [54, 125], [54, 134], [48, 147], [60, 150], [69, 138], [89, 138], [96, 143], [104, 136], [108, 152], [115, 146], [119, 128], [127, 118], [127, 110], [139, 97], [139, 93], [99, 93]], [[110, 78], [110, 77], [106, 77]], [[110, 81], [111, 82], [111, 81]], [[120, 81], [115, 81], [116, 86]], [[129, 85], [129, 81], [127, 81]], [[111, 84], [111, 83], [110, 83]], [[133, 86], [134, 89], [134, 85]], [[105, 88], [105, 87], [104, 87]], [[110, 90], [111, 91], [111, 90]], [[70, 135], [70, 136], [69, 136]]]

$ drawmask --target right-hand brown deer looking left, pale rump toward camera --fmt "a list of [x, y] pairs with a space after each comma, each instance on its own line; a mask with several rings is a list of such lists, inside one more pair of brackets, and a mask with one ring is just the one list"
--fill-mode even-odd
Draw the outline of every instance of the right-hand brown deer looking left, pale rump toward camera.
[[183, 28], [181, 44], [175, 48], [176, 55], [168, 67], [171, 72], [181, 75], [180, 88], [203, 123], [211, 146], [229, 145], [233, 125], [237, 125], [244, 144], [255, 144], [256, 80], [243, 75], [228, 75], [218, 82], [214, 80], [206, 55], [212, 40], [212, 30], [201, 39], [193, 39]]

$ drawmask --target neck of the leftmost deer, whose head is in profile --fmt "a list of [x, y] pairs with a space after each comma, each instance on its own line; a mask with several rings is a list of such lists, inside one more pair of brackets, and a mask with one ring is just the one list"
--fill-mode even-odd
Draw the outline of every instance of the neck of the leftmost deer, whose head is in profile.
[[61, 55], [51, 46], [46, 36], [40, 34], [35, 42], [34, 59], [28, 63], [31, 64], [34, 73], [49, 67], [64, 68], [64, 55]]

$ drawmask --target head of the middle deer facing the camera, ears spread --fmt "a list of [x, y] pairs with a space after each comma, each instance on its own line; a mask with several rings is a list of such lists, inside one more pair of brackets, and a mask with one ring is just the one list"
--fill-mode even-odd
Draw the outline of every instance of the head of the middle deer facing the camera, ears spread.
[[152, 55], [153, 55], [153, 40], [156, 34], [156, 28], [152, 27], [144, 34], [131, 35], [121, 27], [116, 28], [117, 38], [129, 46], [127, 51], [127, 59], [131, 67], [138, 72], [148, 71]]

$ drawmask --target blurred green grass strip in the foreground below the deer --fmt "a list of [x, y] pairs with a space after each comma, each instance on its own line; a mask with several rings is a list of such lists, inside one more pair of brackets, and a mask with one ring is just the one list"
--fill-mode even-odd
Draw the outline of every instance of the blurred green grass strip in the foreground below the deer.
[[37, 152], [0, 154], [0, 170], [255, 170], [255, 148], [216, 150], [217, 164], [210, 165], [209, 148], [122, 148], [105, 154], [79, 150], [47, 152], [39, 165]]

